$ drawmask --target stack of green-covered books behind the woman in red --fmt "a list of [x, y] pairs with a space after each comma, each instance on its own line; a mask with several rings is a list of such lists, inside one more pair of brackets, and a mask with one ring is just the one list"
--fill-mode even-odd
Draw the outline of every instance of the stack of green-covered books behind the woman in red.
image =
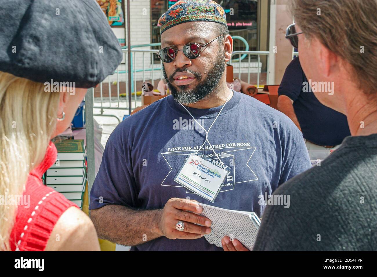
[[54, 142], [58, 150], [55, 164], [46, 172], [46, 185], [82, 207], [86, 185], [86, 147], [83, 139]]

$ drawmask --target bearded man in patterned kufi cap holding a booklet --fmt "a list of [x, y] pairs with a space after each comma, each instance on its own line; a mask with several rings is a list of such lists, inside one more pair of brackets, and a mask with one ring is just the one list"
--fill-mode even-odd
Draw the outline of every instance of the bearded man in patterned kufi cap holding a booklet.
[[[172, 95], [110, 135], [90, 192], [91, 217], [100, 237], [131, 250], [222, 251], [221, 238], [215, 245], [204, 237], [211, 222], [198, 215], [197, 202], [261, 217], [265, 194], [310, 168], [308, 152], [287, 116], [227, 87], [233, 40], [219, 4], [178, 1], [159, 25], [156, 54]], [[176, 178], [192, 151], [226, 172], [214, 200], [204, 194], [216, 192]]]

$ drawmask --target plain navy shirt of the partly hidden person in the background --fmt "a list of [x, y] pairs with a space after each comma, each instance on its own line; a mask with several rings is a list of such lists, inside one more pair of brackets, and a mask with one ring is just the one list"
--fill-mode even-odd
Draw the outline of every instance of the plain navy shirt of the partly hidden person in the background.
[[313, 92], [303, 91], [304, 82], [308, 80], [299, 58], [294, 58], [285, 70], [278, 93], [294, 101], [303, 137], [319, 145], [341, 144], [346, 136], [351, 136], [347, 117], [321, 104]]

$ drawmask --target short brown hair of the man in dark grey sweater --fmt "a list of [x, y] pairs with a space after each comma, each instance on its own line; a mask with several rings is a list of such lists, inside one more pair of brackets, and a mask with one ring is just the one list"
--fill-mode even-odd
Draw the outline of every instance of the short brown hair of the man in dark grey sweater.
[[305, 37], [351, 64], [366, 95], [376, 93], [377, 0], [291, 0], [290, 9]]

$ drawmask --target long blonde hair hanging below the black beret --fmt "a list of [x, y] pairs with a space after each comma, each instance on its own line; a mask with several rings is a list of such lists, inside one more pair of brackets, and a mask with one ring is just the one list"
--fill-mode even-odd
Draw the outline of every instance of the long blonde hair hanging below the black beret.
[[[44, 84], [0, 71], [0, 194], [17, 196], [28, 174], [44, 158], [56, 128], [60, 93]], [[17, 205], [0, 205], [0, 251], [9, 237]]]

